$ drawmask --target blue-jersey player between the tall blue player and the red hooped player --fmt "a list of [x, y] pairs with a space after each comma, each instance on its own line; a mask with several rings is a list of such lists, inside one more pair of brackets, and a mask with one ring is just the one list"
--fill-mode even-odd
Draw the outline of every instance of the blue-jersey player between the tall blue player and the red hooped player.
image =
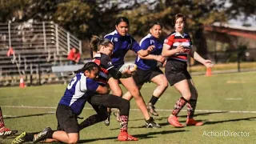
[[[138, 66], [137, 72], [133, 78], [140, 90], [145, 82], [154, 82], [158, 87], [154, 90], [150, 102], [147, 104], [147, 109], [150, 114], [158, 116], [158, 113], [154, 110], [154, 104], [158, 101], [158, 98], [164, 93], [168, 86], [166, 76], [159, 69], [158, 62], [166, 62], [166, 58], [162, 57], [162, 44], [161, 40], [162, 25], [159, 22], [154, 22], [150, 26], [150, 34], [142, 38], [140, 46], [142, 50], [146, 50], [148, 46], [154, 46], [154, 50], [150, 52], [146, 57], [142, 57], [138, 54], [135, 64]], [[123, 95], [123, 98], [132, 98], [130, 92]]]

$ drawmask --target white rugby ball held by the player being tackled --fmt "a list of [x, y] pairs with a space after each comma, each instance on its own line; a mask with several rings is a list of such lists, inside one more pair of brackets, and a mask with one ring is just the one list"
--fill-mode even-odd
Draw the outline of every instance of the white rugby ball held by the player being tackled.
[[122, 78], [129, 78], [135, 74], [137, 65], [134, 63], [125, 63], [120, 67], [119, 71], [122, 73]]

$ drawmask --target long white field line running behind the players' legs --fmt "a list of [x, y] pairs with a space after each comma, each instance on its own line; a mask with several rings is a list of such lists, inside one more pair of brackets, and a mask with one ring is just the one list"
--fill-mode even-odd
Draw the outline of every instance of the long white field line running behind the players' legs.
[[[23, 108], [23, 109], [56, 109], [56, 106], [1, 106], [9, 108]], [[85, 110], [94, 110], [93, 108], [84, 108]], [[130, 109], [132, 111], [139, 111], [139, 109]], [[167, 111], [167, 109], [156, 109], [157, 111]], [[186, 111], [186, 110], [182, 110]], [[246, 110], [196, 110], [197, 112], [206, 112], [206, 113], [243, 113], [243, 114], [256, 114], [256, 111], [246, 111]]]

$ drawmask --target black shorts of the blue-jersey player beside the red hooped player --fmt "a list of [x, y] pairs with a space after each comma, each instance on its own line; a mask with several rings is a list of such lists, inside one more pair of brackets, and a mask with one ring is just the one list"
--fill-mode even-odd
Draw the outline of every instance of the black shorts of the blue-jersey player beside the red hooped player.
[[137, 86], [142, 86], [145, 82], [151, 82], [151, 79], [159, 74], [163, 74], [159, 67], [156, 67], [154, 70], [142, 70], [138, 68], [133, 78]]

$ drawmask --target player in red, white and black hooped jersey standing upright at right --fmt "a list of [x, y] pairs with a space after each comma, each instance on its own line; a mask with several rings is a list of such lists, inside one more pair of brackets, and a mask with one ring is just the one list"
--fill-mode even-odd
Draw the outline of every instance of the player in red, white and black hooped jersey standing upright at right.
[[183, 127], [183, 125], [178, 122], [177, 115], [180, 110], [182, 110], [182, 107], [187, 104], [188, 114], [186, 126], [202, 126], [203, 122], [194, 120], [194, 110], [197, 104], [198, 92], [189, 72], [186, 70], [187, 55], [190, 54], [190, 57], [201, 62], [206, 67], [211, 67], [213, 64], [210, 60], [202, 58], [194, 51], [190, 35], [183, 32], [184, 26], [186, 26], [186, 16], [176, 14], [173, 22], [175, 31], [165, 39], [162, 56], [167, 58], [165, 70], [166, 78], [170, 86], [174, 86], [180, 94], [182, 94], [182, 97], [176, 102], [174, 110], [168, 118], [168, 122], [175, 127]]

